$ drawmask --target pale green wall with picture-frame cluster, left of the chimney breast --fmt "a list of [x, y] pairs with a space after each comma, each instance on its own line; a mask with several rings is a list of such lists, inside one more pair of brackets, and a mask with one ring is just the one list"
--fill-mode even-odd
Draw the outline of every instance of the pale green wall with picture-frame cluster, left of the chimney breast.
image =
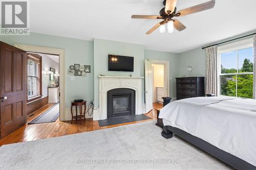
[[[82, 64], [91, 65], [93, 70], [93, 41], [85, 41], [74, 38], [52, 36], [46, 34], [30, 33], [29, 36], [0, 36], [0, 41], [10, 45], [23, 43], [38, 46], [47, 46], [65, 49], [66, 71], [70, 65]], [[49, 68], [50, 69], [50, 68]], [[93, 100], [93, 71], [86, 77], [75, 77], [70, 80], [70, 75], [66, 72], [66, 107], [70, 107], [70, 102], [74, 99]]]

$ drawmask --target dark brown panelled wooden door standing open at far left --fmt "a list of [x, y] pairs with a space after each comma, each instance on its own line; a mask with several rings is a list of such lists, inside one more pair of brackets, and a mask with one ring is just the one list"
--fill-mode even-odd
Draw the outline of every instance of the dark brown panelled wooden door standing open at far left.
[[0, 41], [1, 138], [26, 124], [27, 54]]

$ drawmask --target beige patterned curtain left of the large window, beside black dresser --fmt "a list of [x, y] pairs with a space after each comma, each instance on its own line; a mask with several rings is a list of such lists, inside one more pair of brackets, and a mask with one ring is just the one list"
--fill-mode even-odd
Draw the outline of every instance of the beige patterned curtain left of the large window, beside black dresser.
[[205, 94], [217, 93], [217, 71], [218, 71], [217, 45], [206, 48], [206, 89]]

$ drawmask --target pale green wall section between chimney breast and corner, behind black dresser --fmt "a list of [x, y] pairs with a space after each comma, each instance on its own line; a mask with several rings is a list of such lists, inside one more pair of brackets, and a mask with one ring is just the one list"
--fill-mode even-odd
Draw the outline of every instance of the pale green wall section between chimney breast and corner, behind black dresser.
[[155, 59], [155, 60], [168, 60], [169, 61], [169, 89], [170, 96], [176, 97], [176, 80], [178, 76], [178, 54], [168, 53], [168, 52], [159, 52], [153, 50], [144, 50], [145, 59]]

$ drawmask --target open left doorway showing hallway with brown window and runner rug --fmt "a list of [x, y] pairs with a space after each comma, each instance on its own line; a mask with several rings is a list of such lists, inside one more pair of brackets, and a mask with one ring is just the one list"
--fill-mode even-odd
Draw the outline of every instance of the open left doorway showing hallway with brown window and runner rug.
[[27, 55], [28, 124], [55, 122], [59, 117], [59, 56]]

